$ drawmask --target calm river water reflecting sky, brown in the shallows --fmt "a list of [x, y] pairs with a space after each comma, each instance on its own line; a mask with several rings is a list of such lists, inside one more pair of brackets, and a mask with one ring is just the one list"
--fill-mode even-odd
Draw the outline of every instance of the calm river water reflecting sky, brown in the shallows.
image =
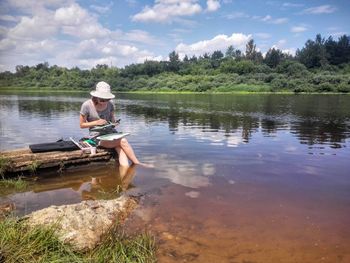
[[[0, 150], [83, 136], [88, 97], [0, 95]], [[18, 214], [128, 191], [159, 262], [349, 262], [350, 96], [139, 95], [115, 101], [120, 131], [155, 169], [113, 162], [2, 192]], [[92, 177], [97, 182], [92, 183]]]

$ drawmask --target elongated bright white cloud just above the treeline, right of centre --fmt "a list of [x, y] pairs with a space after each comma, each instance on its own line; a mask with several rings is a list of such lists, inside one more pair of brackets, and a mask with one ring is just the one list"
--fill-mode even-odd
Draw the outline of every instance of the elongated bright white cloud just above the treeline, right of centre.
[[251, 35], [244, 35], [242, 33], [234, 33], [231, 36], [217, 35], [210, 40], [199, 41], [191, 45], [181, 43], [177, 45], [175, 51], [180, 57], [184, 57], [185, 55], [199, 56], [206, 52], [214, 52], [215, 50], [226, 51], [230, 45], [233, 45], [237, 49], [242, 49], [250, 38]]

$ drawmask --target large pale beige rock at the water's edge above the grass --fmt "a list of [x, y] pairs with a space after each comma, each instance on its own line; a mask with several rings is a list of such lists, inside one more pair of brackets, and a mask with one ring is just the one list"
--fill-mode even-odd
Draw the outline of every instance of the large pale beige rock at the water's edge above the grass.
[[85, 251], [94, 248], [116, 221], [123, 223], [136, 206], [135, 198], [122, 196], [114, 200], [50, 206], [26, 218], [31, 226], [55, 224], [60, 240], [78, 251]]

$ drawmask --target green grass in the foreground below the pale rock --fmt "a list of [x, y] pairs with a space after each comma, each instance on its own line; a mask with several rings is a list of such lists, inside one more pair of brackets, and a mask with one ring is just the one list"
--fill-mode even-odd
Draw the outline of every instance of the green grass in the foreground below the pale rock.
[[95, 249], [81, 253], [58, 239], [54, 225], [29, 227], [7, 217], [0, 221], [0, 262], [151, 263], [155, 241], [148, 234], [127, 236], [115, 224]]

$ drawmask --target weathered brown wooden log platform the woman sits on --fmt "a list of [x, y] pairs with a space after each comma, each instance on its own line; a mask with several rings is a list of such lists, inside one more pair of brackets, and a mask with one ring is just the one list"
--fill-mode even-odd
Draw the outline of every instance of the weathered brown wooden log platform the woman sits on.
[[86, 164], [95, 161], [108, 161], [112, 157], [110, 151], [97, 149], [95, 155], [76, 151], [53, 151], [32, 153], [30, 149], [19, 149], [0, 152], [1, 174], [36, 172], [46, 168], [63, 170], [67, 166]]

